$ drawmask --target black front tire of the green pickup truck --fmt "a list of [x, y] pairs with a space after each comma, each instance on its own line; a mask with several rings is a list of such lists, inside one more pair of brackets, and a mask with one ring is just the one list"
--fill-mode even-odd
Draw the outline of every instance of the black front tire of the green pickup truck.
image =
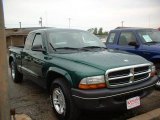
[[[62, 99], [62, 101], [64, 100], [65, 107], [64, 107], [64, 111], [62, 113], [58, 112], [59, 110], [56, 109], [56, 107], [58, 105], [55, 105], [54, 102], [53, 102], [53, 99], [55, 101], [55, 96], [57, 95], [56, 92], [55, 92], [56, 90], [59, 90], [60, 93], [63, 94], [61, 96], [64, 96], [64, 99]], [[52, 85], [51, 85], [51, 88], [50, 88], [50, 100], [51, 100], [53, 111], [55, 112], [55, 114], [56, 114], [56, 116], [58, 117], [59, 120], [78, 120], [77, 118], [80, 115], [80, 111], [75, 106], [75, 104], [73, 102], [70, 87], [67, 84], [67, 82], [65, 81], [65, 79], [57, 78], [52, 82]], [[60, 102], [57, 102], [57, 103], [60, 103]]]

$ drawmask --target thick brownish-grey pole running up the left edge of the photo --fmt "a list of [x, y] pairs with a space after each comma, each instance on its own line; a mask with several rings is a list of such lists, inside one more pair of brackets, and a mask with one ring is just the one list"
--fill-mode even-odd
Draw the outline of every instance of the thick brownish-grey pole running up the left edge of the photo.
[[0, 56], [0, 120], [10, 120], [7, 49], [2, 0], [0, 0]]

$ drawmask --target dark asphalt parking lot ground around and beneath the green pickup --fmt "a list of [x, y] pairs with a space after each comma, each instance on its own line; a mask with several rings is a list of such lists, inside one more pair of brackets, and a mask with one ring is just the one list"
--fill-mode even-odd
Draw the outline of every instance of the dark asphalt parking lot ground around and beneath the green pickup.
[[[31, 80], [24, 79], [21, 84], [15, 84], [9, 75], [9, 92], [10, 106], [16, 109], [16, 113], [27, 114], [33, 120], [57, 120], [48, 93]], [[125, 120], [156, 108], [160, 108], [160, 91], [157, 90], [141, 100], [141, 106], [134, 110], [83, 112], [79, 120]]]

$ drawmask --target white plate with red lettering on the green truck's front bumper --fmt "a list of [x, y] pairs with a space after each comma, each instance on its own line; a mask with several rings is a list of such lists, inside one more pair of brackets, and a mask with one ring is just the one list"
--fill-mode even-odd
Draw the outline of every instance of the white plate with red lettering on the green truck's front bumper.
[[140, 97], [133, 97], [126, 100], [127, 110], [140, 106]]

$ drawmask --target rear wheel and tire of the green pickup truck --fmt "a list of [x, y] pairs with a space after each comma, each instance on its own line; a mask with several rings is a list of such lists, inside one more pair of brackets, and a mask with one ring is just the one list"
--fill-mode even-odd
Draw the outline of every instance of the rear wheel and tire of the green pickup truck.
[[18, 69], [17, 69], [17, 65], [14, 61], [12, 61], [10, 63], [10, 69], [11, 69], [11, 77], [12, 77], [12, 80], [15, 82], [15, 83], [21, 83], [22, 80], [23, 80], [23, 74], [21, 74]]

